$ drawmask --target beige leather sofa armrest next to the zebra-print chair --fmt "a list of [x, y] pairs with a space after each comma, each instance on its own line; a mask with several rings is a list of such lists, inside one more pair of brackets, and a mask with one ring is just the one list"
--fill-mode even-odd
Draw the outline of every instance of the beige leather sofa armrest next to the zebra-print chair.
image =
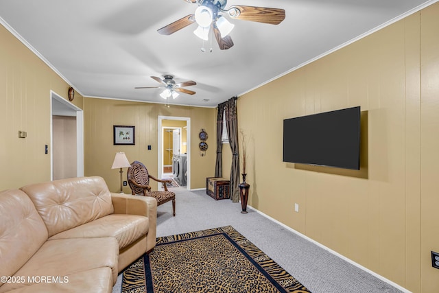
[[126, 215], [144, 215], [149, 219], [150, 230], [147, 233], [147, 252], [156, 246], [157, 200], [150, 196], [132, 196], [130, 194], [111, 193], [114, 213]]

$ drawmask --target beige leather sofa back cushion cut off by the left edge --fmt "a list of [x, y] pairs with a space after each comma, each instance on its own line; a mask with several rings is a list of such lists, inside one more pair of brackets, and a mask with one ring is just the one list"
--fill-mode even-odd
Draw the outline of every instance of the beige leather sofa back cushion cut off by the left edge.
[[0, 191], [0, 215], [0, 276], [12, 276], [47, 240], [47, 228], [19, 189]]

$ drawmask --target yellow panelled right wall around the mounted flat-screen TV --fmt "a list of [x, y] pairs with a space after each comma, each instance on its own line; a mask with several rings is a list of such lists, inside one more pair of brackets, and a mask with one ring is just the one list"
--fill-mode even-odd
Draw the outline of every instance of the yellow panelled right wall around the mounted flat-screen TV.
[[[430, 258], [439, 250], [438, 32], [436, 3], [239, 97], [237, 106], [249, 138], [249, 204], [424, 293], [439, 292]], [[361, 106], [368, 130], [360, 172], [283, 163], [283, 119], [351, 106]]]

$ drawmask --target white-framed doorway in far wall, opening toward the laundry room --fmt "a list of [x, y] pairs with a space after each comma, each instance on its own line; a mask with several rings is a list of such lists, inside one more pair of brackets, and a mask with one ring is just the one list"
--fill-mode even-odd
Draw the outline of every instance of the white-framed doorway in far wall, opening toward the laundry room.
[[[166, 174], [164, 168], [170, 165], [172, 173], [176, 172], [179, 176], [184, 175], [184, 178], [179, 177], [177, 179], [177, 183], [182, 183], [180, 186], [186, 189], [191, 188], [190, 129], [191, 119], [189, 117], [158, 116], [158, 176], [163, 178]], [[185, 168], [179, 169], [179, 172], [176, 169], [176, 156], [185, 157]], [[168, 161], [165, 161], [165, 159]], [[176, 174], [171, 174], [171, 176], [174, 178]], [[161, 186], [158, 188], [161, 188]]]

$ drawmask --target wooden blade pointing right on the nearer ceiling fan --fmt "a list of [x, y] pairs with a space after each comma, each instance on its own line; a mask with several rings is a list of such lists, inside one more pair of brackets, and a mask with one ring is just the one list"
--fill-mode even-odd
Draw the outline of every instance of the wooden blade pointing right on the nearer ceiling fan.
[[270, 25], [278, 25], [285, 19], [285, 10], [280, 8], [232, 5], [227, 12], [232, 19], [257, 21]]

